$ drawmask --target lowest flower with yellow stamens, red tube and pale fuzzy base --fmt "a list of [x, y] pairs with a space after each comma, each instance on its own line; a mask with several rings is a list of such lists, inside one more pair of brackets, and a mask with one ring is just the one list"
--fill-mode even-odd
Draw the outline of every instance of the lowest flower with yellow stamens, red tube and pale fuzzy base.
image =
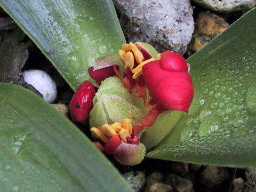
[[140, 137], [135, 135], [131, 120], [103, 124], [91, 128], [92, 137], [99, 139], [95, 146], [101, 151], [113, 154], [116, 160], [125, 165], [139, 164], [146, 153], [145, 146], [140, 143]]

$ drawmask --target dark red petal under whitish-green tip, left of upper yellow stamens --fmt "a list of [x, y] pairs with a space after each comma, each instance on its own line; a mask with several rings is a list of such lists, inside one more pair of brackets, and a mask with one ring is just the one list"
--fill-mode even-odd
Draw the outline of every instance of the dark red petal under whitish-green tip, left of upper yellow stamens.
[[[116, 66], [117, 70], [119, 69], [119, 66]], [[88, 69], [88, 72], [90, 76], [95, 80], [95, 81], [103, 81], [107, 77], [114, 76], [116, 73], [114, 71], [113, 66], [105, 67], [102, 69], [94, 70], [93, 67], [90, 67]]]

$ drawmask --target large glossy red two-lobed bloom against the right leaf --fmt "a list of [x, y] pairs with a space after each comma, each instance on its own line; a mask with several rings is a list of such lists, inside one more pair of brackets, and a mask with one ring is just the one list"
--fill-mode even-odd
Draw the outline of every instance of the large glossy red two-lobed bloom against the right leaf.
[[142, 67], [151, 97], [165, 109], [188, 112], [194, 88], [186, 60], [178, 53], [165, 51], [161, 60]]

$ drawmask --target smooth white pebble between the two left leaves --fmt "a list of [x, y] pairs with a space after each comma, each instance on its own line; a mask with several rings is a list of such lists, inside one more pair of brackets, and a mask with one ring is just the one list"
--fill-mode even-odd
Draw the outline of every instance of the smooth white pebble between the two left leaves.
[[42, 70], [27, 70], [24, 72], [24, 80], [33, 85], [39, 91], [45, 101], [52, 103], [57, 97], [57, 87], [52, 78]]

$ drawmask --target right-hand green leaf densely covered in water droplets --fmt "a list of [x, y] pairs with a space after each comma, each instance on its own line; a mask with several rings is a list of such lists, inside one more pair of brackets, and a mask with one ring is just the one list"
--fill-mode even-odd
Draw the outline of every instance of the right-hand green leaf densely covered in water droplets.
[[256, 166], [256, 9], [188, 59], [195, 86], [190, 113], [147, 156]]

